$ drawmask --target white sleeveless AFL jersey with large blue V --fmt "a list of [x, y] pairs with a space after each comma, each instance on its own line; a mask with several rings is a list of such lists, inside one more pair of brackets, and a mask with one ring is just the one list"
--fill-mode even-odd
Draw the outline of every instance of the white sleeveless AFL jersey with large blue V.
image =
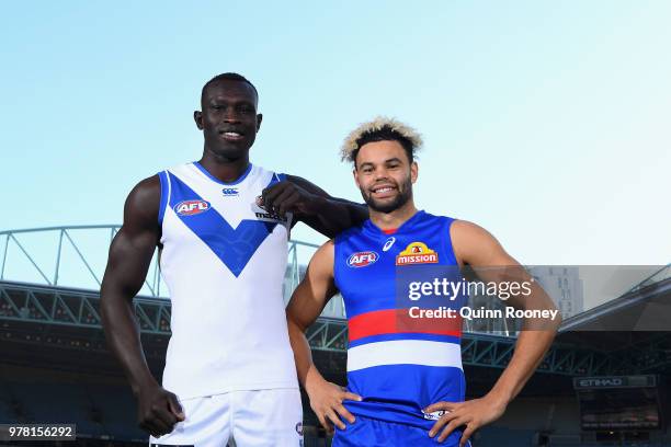
[[291, 216], [255, 203], [283, 175], [250, 164], [224, 183], [194, 162], [159, 177], [172, 301], [163, 387], [180, 399], [297, 388], [282, 294]]

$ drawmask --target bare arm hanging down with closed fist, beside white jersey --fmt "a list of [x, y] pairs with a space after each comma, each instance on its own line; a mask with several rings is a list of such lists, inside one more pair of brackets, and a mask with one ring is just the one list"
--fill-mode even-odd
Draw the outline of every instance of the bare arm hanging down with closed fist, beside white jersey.
[[163, 390], [147, 366], [133, 309], [133, 298], [143, 287], [159, 242], [159, 206], [158, 176], [144, 180], [130, 192], [100, 290], [107, 344], [138, 400], [139, 425], [153, 436], [170, 433], [177, 421], [184, 419], [177, 397]]

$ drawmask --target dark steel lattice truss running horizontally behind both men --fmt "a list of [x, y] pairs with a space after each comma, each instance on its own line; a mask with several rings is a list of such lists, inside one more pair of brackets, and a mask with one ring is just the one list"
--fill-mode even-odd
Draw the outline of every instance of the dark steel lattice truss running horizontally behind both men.
[[[21, 321], [102, 330], [99, 296], [86, 290], [68, 290], [26, 284], [0, 282], [0, 321]], [[134, 309], [143, 334], [170, 336], [170, 301], [138, 297]], [[343, 319], [319, 318], [308, 330], [308, 341], [316, 351], [346, 353], [348, 326]], [[484, 333], [464, 333], [462, 352], [464, 365], [505, 368], [516, 339]], [[554, 344], [541, 364], [542, 373], [590, 376], [618, 374], [624, 367], [645, 371], [657, 365], [671, 364], [671, 355], [660, 355], [663, 337], [647, 347], [624, 355], [600, 353], [573, 345]], [[648, 360], [646, 360], [648, 358]], [[343, 366], [344, 367], [344, 366]], [[632, 368], [629, 368], [632, 369]]]

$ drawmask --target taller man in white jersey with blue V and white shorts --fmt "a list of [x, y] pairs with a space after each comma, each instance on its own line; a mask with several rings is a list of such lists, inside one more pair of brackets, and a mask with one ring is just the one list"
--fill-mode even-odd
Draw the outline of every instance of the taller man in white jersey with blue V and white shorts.
[[[240, 74], [208, 81], [201, 103], [201, 160], [141, 181], [126, 200], [101, 288], [105, 334], [151, 445], [298, 446], [303, 412], [282, 294], [289, 230], [302, 220], [334, 236], [366, 209], [249, 161], [262, 115]], [[172, 302], [162, 386], [132, 306], [157, 245]]]

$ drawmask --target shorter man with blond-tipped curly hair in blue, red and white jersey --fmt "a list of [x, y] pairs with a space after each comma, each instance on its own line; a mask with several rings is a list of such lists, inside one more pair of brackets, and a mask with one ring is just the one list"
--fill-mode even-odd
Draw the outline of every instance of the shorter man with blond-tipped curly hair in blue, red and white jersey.
[[[413, 318], [421, 312], [399, 300], [399, 276], [421, 264], [455, 271], [464, 265], [523, 270], [485, 229], [416, 208], [414, 151], [420, 146], [413, 129], [388, 118], [363, 124], [349, 136], [343, 159], [354, 163], [354, 179], [368, 205], [369, 219], [315, 253], [287, 308], [298, 378], [321, 424], [327, 429], [334, 426], [337, 447], [469, 446], [473, 433], [500, 417], [520, 392], [559, 324], [558, 320], [527, 324], [490, 392], [465, 401], [458, 312], [439, 323]], [[503, 280], [502, 271], [488, 272], [480, 274], [482, 280]], [[508, 302], [525, 309], [554, 309], [539, 287], [533, 285], [532, 290], [524, 300], [518, 295]], [[305, 337], [338, 291], [349, 324], [346, 389], [323, 379]], [[452, 302], [456, 310], [454, 305], [459, 301]], [[532, 333], [531, 328], [539, 330]]]

